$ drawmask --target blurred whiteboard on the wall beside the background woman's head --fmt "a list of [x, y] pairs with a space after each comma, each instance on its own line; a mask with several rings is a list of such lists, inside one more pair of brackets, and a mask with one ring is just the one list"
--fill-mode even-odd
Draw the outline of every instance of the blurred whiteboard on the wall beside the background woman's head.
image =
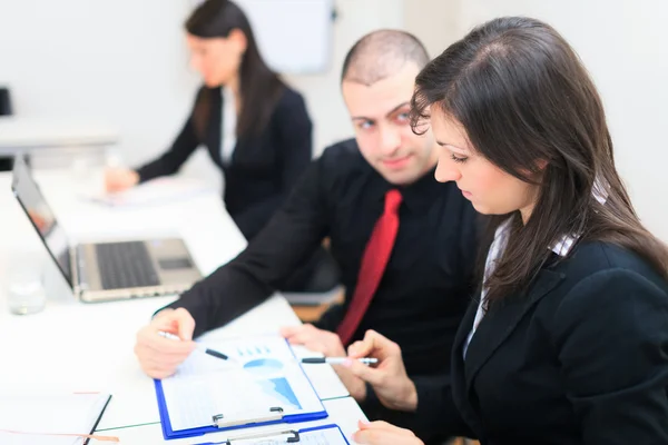
[[328, 70], [334, 0], [233, 1], [248, 17], [259, 51], [273, 70], [287, 75]]

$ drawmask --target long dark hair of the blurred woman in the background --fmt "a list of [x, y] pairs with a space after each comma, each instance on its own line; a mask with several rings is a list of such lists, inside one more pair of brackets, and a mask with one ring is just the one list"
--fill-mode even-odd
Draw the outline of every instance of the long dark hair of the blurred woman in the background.
[[[188, 33], [203, 38], [227, 37], [238, 29], [246, 37], [246, 51], [239, 67], [242, 109], [237, 121], [237, 138], [259, 135], [274, 112], [285, 83], [264, 61], [244, 11], [229, 0], [206, 0], [186, 21]], [[195, 107], [195, 127], [200, 137], [206, 131], [213, 89], [203, 89]]]

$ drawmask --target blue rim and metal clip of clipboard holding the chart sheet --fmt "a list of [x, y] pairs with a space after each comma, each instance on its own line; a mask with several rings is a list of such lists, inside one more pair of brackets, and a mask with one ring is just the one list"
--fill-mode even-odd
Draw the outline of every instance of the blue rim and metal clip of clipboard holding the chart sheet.
[[[287, 340], [285, 340], [285, 343], [289, 347], [289, 344], [287, 343]], [[292, 350], [292, 347], [289, 347], [289, 350], [291, 350], [293, 357], [295, 359], [297, 359], [297, 357], [294, 355], [294, 350]], [[315, 394], [317, 394], [317, 392], [313, 387], [313, 383], [311, 383], [311, 379], [306, 376], [306, 373], [304, 373], [302, 365], [299, 365], [299, 368], [302, 369], [302, 373], [304, 374], [304, 378], [306, 378], [306, 380], [308, 382], [308, 385], [311, 386], [313, 392]], [[156, 387], [158, 412], [160, 413], [160, 426], [163, 428], [163, 436], [165, 437], [166, 441], [174, 439], [174, 438], [202, 436], [202, 435], [205, 435], [208, 433], [220, 433], [224, 431], [247, 428], [250, 426], [263, 426], [263, 425], [273, 425], [273, 424], [281, 424], [281, 423], [293, 424], [293, 423], [301, 423], [301, 422], [317, 421], [321, 418], [325, 418], [328, 415], [327, 411], [325, 409], [324, 405], [322, 405], [322, 402], [321, 402], [321, 407], [323, 409], [318, 411], [318, 412], [314, 412], [314, 413], [299, 413], [299, 414], [283, 415], [283, 409], [281, 407], [267, 407], [266, 412], [258, 413], [258, 415], [256, 417], [246, 418], [238, 423], [224, 425], [224, 426], [220, 426], [220, 425], [217, 426], [216, 424], [214, 424], [215, 421], [213, 419], [212, 425], [209, 425], [209, 426], [174, 431], [171, 428], [171, 423], [169, 421], [169, 411], [167, 409], [165, 392], [163, 390], [163, 383], [159, 379], [154, 379], [154, 384]]]

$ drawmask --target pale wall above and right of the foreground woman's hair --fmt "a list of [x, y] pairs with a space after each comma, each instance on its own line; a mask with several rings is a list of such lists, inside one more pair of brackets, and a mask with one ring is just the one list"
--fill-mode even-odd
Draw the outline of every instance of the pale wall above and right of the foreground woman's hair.
[[[474, 24], [503, 14], [536, 17], [556, 27], [578, 51], [603, 98], [617, 165], [636, 209], [668, 241], [667, 1], [406, 0], [406, 11], [409, 4], [414, 10], [406, 13], [407, 29], [423, 32], [432, 46], [441, 41], [436, 52]], [[425, 16], [425, 10], [436, 12]]]

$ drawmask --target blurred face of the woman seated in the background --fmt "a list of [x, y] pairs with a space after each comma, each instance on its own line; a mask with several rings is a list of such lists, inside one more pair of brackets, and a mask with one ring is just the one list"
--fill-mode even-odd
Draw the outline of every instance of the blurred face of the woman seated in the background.
[[209, 88], [227, 85], [236, 78], [246, 50], [243, 32], [233, 30], [228, 37], [200, 38], [186, 36], [190, 66], [202, 75]]

